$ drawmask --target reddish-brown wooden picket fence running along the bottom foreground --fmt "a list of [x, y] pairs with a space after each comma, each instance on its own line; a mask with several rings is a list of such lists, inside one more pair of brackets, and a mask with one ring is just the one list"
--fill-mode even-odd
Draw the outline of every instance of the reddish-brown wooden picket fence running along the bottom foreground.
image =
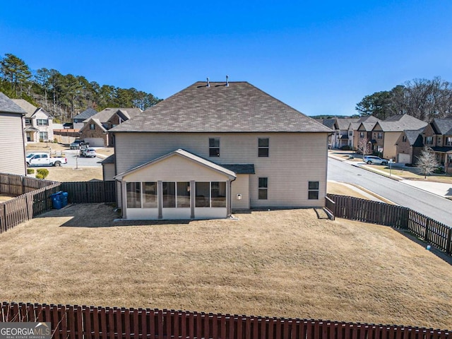
[[447, 330], [313, 319], [70, 305], [1, 305], [0, 321], [50, 322], [52, 338], [451, 339]]

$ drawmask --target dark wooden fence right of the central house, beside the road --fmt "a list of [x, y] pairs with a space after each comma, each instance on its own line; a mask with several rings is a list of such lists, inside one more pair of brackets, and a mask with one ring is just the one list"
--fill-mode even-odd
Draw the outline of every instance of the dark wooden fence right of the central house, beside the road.
[[326, 201], [326, 208], [335, 217], [409, 230], [424, 242], [452, 254], [452, 228], [415, 210], [336, 194], [328, 194]]

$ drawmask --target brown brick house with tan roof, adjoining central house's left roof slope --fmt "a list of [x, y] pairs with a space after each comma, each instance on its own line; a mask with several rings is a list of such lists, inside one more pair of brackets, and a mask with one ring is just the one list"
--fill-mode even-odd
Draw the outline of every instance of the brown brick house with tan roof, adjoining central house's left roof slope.
[[124, 121], [141, 114], [139, 108], [106, 108], [83, 121], [83, 127], [79, 130], [80, 138], [90, 143], [91, 146], [113, 146], [112, 134], [107, 133]]

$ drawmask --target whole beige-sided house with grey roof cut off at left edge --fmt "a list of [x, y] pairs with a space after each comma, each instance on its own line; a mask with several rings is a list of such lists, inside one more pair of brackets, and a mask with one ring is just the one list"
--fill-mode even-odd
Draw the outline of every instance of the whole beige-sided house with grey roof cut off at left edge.
[[25, 175], [25, 140], [23, 117], [25, 110], [0, 92], [0, 172]]

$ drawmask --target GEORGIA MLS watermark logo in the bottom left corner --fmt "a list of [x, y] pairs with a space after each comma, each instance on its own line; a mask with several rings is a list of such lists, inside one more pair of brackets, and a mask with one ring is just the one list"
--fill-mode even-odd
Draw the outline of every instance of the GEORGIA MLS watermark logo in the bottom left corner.
[[0, 323], [0, 339], [50, 339], [50, 323]]

